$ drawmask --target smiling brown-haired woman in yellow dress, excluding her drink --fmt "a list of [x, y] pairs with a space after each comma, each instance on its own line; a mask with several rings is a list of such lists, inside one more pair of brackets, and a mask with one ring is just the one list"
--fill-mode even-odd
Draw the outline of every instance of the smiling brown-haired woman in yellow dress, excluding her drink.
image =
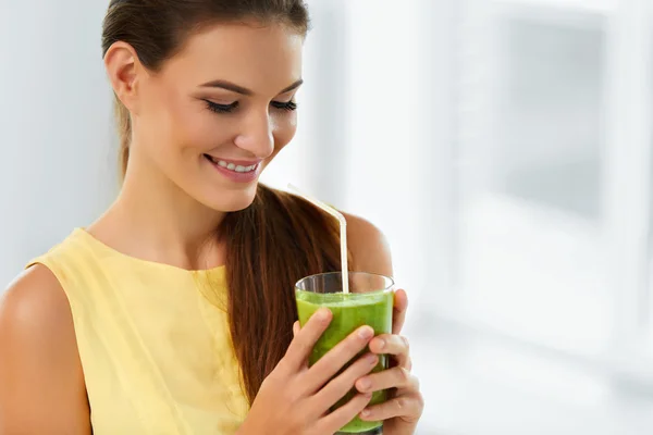
[[[337, 227], [258, 184], [295, 134], [307, 27], [300, 0], [111, 2], [122, 191], [5, 293], [0, 433], [321, 435], [355, 415], [414, 433], [422, 398], [401, 336], [362, 327], [307, 366], [331, 313], [299, 330], [293, 284], [340, 268]], [[356, 269], [391, 274], [381, 234], [348, 221]], [[399, 290], [395, 334], [406, 307]], [[369, 374], [380, 353], [396, 366]]]

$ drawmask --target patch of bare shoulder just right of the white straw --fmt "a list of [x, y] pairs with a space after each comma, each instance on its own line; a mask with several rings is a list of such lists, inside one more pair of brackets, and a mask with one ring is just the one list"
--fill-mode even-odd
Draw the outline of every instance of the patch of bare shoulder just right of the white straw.
[[343, 213], [347, 220], [347, 239], [357, 271], [392, 276], [392, 256], [387, 239], [371, 222]]

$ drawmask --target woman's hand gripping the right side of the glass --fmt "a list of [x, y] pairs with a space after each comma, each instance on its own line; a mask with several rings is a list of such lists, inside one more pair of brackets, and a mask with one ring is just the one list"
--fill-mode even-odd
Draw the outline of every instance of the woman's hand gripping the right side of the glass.
[[389, 355], [391, 368], [383, 372], [372, 373], [356, 382], [360, 393], [389, 391], [389, 400], [365, 409], [360, 419], [366, 421], [383, 421], [383, 433], [386, 435], [411, 435], [422, 414], [424, 401], [419, 390], [419, 381], [410, 373], [412, 363], [408, 340], [398, 335], [404, 326], [408, 297], [406, 291], [397, 290], [394, 296], [392, 334], [379, 335], [370, 343], [370, 351], [377, 355]]

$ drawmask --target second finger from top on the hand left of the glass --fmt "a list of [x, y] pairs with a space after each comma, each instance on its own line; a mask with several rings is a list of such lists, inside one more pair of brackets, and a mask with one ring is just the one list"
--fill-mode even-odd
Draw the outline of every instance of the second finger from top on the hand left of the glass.
[[[333, 349], [328, 351], [308, 371], [306, 385], [315, 391], [326, 384], [346, 363], [360, 353], [374, 336], [370, 326], [361, 326], [354, 331]], [[354, 382], [352, 382], [352, 385]]]

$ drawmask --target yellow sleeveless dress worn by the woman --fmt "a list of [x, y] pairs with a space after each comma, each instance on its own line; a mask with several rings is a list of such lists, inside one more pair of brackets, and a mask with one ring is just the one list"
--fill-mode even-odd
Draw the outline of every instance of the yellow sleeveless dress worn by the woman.
[[29, 265], [70, 301], [94, 435], [234, 434], [248, 412], [223, 268], [122, 254], [75, 229]]

